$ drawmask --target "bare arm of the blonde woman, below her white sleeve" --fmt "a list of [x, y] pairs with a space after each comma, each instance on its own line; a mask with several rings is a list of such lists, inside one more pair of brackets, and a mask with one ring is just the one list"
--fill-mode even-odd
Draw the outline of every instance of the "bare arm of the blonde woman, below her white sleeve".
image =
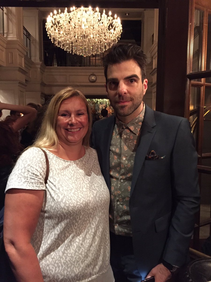
[[5, 197], [4, 243], [17, 282], [43, 282], [31, 244], [44, 200], [44, 190], [10, 189]]

